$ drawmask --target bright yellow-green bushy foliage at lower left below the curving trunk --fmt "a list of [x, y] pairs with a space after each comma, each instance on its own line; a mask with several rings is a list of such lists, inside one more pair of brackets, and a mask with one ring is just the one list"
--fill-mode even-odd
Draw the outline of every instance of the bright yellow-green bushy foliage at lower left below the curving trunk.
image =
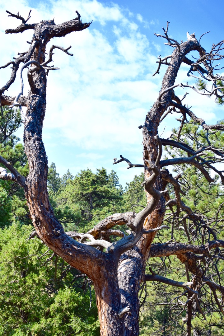
[[93, 297], [75, 281], [77, 271], [39, 239], [31, 226], [0, 230], [0, 335], [98, 335]]

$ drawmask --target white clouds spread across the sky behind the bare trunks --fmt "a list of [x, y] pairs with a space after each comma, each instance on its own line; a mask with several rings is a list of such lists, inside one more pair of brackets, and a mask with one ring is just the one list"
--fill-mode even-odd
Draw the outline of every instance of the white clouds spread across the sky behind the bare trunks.
[[[0, 0], [0, 9], [16, 13], [19, 10], [21, 15], [26, 16], [30, 6], [25, 0], [12, 0], [8, 7]], [[87, 164], [92, 169], [108, 165], [122, 176], [133, 176], [140, 170], [132, 173], [131, 169], [127, 171], [125, 165], [111, 166], [111, 158], [122, 154], [130, 156], [129, 159], [135, 163], [141, 163], [142, 132], [138, 126], [144, 123], [150, 105], [158, 96], [162, 72], [165, 71], [163, 68], [160, 75], [151, 76], [157, 68], [157, 59], [151, 48], [153, 46], [160, 52], [160, 45], [149, 41], [141, 32], [140, 27], [147, 23], [142, 15], [132, 15], [114, 3], [107, 5], [96, 0], [49, 1], [47, 7], [43, 3], [38, 5], [38, 9], [32, 9], [29, 22], [54, 17], [55, 23], [61, 23], [76, 17], [75, 10], [80, 12], [83, 22], [93, 20], [93, 23], [82, 32], [74, 32], [52, 41], [63, 47], [72, 45], [74, 56], [54, 50], [53, 64], [60, 70], [50, 72], [47, 80], [47, 109], [43, 130], [50, 150], [47, 154], [51, 161], [58, 160], [56, 166], [59, 169], [64, 169], [64, 159], [60, 163], [59, 158], [65, 155], [65, 148], [66, 153], [73, 153], [74, 160], [78, 159], [78, 162], [66, 166], [64, 171], [68, 168], [72, 171], [72, 167], [85, 169]], [[150, 24], [155, 22], [151, 21]], [[1, 15], [1, 44], [7, 46], [0, 55], [1, 64], [12, 59], [17, 52], [28, 49], [26, 41], [31, 40], [32, 31], [5, 35], [6, 28], [16, 25], [18, 21], [15, 18], [7, 17], [4, 13]], [[187, 71], [186, 68], [181, 69], [178, 81], [186, 80]], [[0, 85], [9, 76], [10, 69], [1, 70]], [[25, 90], [28, 90], [26, 71], [24, 82]], [[7, 94], [16, 95], [19, 90], [17, 78]], [[177, 92], [184, 94], [185, 90], [177, 89]], [[187, 96], [186, 102], [196, 107], [199, 116], [211, 122], [216, 119], [211, 100], [194, 93], [188, 99]], [[175, 125], [174, 117], [169, 115], [165, 119], [163, 136], [166, 133], [170, 135], [170, 129]], [[81, 153], [77, 148], [80, 148]], [[51, 153], [55, 153], [55, 157]], [[88, 160], [84, 160], [85, 155]], [[70, 154], [68, 156], [72, 157]], [[68, 156], [66, 160], [70, 159]], [[73, 174], [76, 172], [73, 170]]]

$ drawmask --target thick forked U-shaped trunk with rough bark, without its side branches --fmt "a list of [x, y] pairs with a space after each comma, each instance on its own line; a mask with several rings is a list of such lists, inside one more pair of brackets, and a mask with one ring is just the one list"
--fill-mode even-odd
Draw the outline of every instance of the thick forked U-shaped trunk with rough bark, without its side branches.
[[[139, 334], [138, 293], [144, 280], [145, 263], [155, 236], [155, 232], [145, 233], [143, 228], [150, 230], [160, 226], [165, 214], [165, 199], [161, 196], [164, 185], [159, 173], [155, 174], [156, 169], [159, 172], [160, 164], [157, 160], [160, 160], [159, 152], [162, 151], [160, 146], [158, 148], [158, 126], [161, 116], [171, 101], [173, 90], [169, 88], [174, 85], [181, 62], [189, 51], [200, 52], [201, 47], [196, 40], [187, 41], [181, 43], [173, 52], [170, 66], [162, 82], [161, 92], [164, 94], [160, 95], [154, 103], [143, 127], [144, 183], [146, 190], [151, 191], [147, 194], [148, 206], [141, 211], [139, 217], [139, 214], [136, 216], [139, 222], [136, 222], [133, 233], [124, 237], [122, 242], [116, 242], [113, 245], [114, 250], [109, 248], [107, 253], [102, 253], [88, 243], [78, 243], [65, 235], [61, 224], [55, 218], [48, 199], [47, 156], [42, 141], [46, 108], [46, 73], [42, 66], [45, 61], [46, 44], [53, 37], [65, 36], [88, 26], [89, 24], [82, 24], [78, 15], [77, 19], [61, 25], [55, 25], [53, 21], [43, 21], [36, 25], [22, 24], [17, 29], [11, 30], [12, 33], [18, 33], [26, 29], [34, 29], [28, 60], [32, 59], [36, 62], [36, 69], [29, 72], [28, 76], [31, 90], [27, 97], [28, 109], [24, 125], [24, 146], [30, 167], [25, 195], [39, 237], [56, 254], [87, 274], [93, 281], [101, 336], [137, 336]], [[68, 49], [60, 49], [68, 53]], [[151, 182], [150, 188], [147, 184], [149, 182]], [[91, 207], [90, 195], [90, 211]], [[125, 314], [123, 314], [124, 308], [127, 308]], [[188, 330], [190, 327], [189, 322]]]

